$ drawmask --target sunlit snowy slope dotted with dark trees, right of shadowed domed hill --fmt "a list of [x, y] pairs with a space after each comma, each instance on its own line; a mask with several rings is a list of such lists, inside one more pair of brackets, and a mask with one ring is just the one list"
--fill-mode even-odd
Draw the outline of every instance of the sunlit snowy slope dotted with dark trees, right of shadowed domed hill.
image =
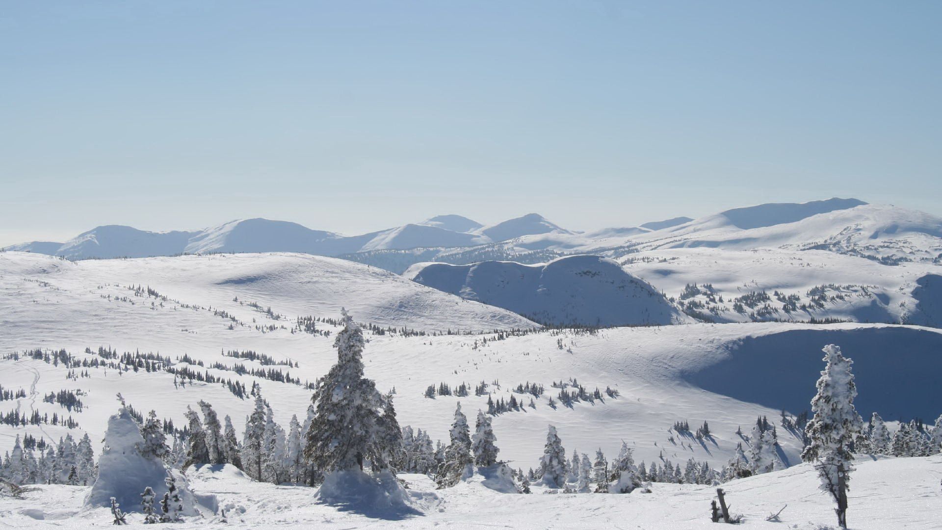
[[810, 250], [658, 249], [630, 254], [625, 270], [715, 322], [842, 320], [942, 326], [940, 270], [886, 266]]

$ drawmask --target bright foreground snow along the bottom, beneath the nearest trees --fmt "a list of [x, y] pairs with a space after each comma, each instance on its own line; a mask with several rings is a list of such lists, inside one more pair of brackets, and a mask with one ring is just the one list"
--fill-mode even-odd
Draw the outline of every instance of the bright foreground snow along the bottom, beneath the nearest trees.
[[[854, 530], [934, 530], [942, 509], [942, 456], [858, 459], [848, 509]], [[709, 520], [714, 487], [654, 484], [651, 493], [630, 495], [508, 495], [472, 480], [455, 488], [434, 490], [423, 475], [400, 475], [411, 489], [430, 495], [409, 513], [338, 510], [314, 501], [314, 489], [254, 483], [232, 468], [191, 470], [194, 492], [216, 495], [227, 526], [258, 528], [717, 528]], [[822, 530], [836, 527], [830, 498], [818, 489], [809, 464], [723, 484], [733, 514], [744, 528]], [[40, 486], [22, 501], [0, 499], [0, 525], [9, 528], [89, 528], [111, 524], [107, 508], [86, 509], [88, 488]], [[781, 522], [767, 522], [778, 512]], [[130, 514], [139, 523], [142, 516]], [[180, 527], [219, 524], [220, 515], [187, 519]]]

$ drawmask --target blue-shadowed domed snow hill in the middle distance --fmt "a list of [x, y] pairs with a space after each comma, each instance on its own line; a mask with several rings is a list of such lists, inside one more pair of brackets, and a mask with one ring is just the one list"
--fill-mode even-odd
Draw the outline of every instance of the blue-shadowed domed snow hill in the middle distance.
[[560, 257], [546, 265], [428, 263], [414, 265], [404, 275], [539, 323], [611, 326], [692, 321], [649, 284], [604, 257]]

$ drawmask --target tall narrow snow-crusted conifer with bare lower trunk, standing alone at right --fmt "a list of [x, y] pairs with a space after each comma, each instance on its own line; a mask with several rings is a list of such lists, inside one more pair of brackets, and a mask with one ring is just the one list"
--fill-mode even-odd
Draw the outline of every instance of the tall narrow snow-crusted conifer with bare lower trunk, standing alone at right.
[[824, 352], [824, 371], [818, 379], [818, 394], [811, 400], [814, 417], [805, 429], [809, 444], [802, 459], [816, 462], [821, 489], [837, 503], [837, 523], [847, 527], [847, 489], [853, 471], [851, 444], [860, 432], [861, 420], [853, 407], [857, 395], [851, 366], [853, 361], [841, 355], [840, 348], [829, 344]]

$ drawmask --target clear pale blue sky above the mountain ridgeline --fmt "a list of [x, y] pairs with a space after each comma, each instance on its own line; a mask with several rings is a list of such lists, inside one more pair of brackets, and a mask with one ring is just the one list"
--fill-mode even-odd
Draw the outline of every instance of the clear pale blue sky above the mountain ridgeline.
[[940, 2], [0, 0], [0, 244], [942, 214]]

